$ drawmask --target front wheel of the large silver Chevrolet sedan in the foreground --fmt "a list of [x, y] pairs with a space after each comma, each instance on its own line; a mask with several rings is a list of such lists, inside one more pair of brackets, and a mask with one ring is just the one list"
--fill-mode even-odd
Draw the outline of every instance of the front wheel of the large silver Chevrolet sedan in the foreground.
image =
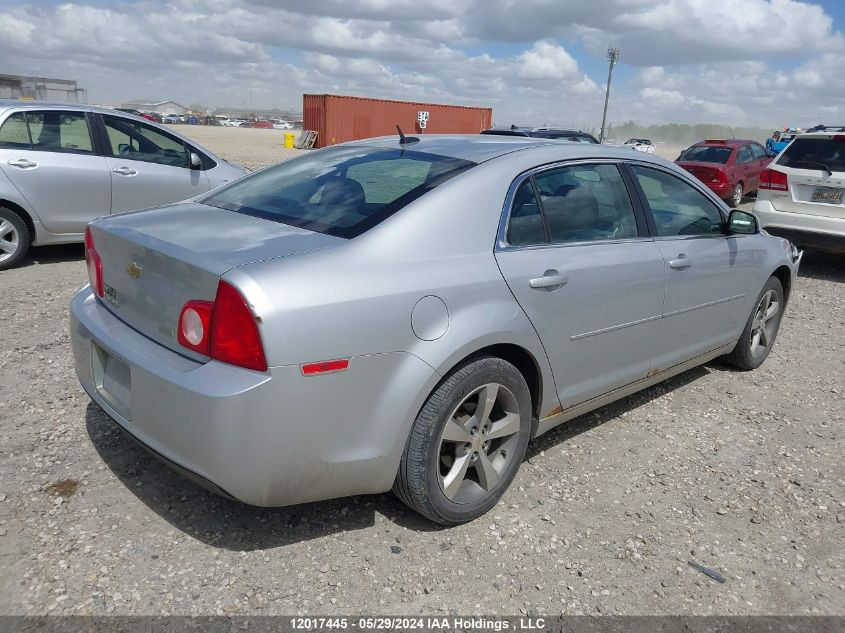
[[783, 286], [777, 277], [769, 277], [754, 306], [736, 347], [724, 357], [739, 369], [757, 369], [775, 344], [784, 310]]

